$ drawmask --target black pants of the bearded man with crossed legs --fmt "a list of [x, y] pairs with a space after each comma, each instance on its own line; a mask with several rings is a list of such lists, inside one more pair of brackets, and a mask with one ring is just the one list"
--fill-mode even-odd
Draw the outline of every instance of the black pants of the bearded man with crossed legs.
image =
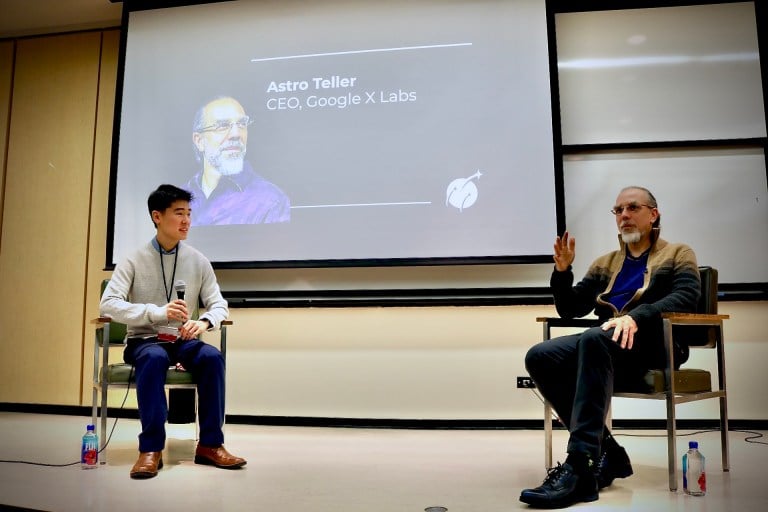
[[526, 354], [528, 373], [570, 432], [568, 453], [597, 460], [614, 385], [626, 388], [658, 367], [662, 339], [638, 334], [627, 350], [611, 339], [613, 329], [593, 327], [541, 342]]

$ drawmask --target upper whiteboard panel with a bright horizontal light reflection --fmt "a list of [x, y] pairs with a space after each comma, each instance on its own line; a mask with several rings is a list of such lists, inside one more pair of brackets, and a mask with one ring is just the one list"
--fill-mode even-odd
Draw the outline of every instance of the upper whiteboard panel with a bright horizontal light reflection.
[[555, 16], [563, 144], [765, 137], [752, 2]]

